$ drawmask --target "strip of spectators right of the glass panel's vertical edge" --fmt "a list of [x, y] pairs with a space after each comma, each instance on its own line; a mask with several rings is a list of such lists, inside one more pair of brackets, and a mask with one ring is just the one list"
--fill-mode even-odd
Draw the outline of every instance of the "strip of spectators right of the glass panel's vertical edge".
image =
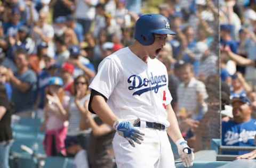
[[[222, 145], [255, 146], [255, 1], [220, 4], [220, 75], [232, 108], [223, 113]], [[225, 89], [222, 89], [222, 91]], [[241, 155], [246, 151], [225, 152]], [[247, 157], [251, 155], [246, 155]], [[239, 157], [243, 158], [243, 157]]]

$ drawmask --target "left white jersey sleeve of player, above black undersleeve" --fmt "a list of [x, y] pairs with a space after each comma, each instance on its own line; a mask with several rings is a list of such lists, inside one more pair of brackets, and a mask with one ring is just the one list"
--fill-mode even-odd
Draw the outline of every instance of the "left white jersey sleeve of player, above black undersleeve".
[[113, 92], [119, 80], [119, 70], [116, 63], [110, 58], [105, 58], [98, 68], [89, 88], [98, 91], [107, 99]]

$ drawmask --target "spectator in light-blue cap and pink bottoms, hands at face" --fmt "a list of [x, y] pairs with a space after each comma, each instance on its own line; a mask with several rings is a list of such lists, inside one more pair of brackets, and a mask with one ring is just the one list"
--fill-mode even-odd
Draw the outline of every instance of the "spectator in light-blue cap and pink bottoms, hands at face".
[[63, 81], [59, 77], [49, 80], [46, 90], [46, 104], [44, 107], [45, 129], [44, 148], [47, 156], [65, 156], [65, 139], [68, 127], [69, 97], [62, 88]]

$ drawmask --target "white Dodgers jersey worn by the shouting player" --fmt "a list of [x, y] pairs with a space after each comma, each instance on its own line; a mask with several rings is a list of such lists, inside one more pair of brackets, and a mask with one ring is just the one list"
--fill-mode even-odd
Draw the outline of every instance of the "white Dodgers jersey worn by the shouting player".
[[148, 58], [143, 62], [129, 47], [106, 57], [91, 85], [108, 98], [107, 104], [119, 119], [157, 122], [169, 127], [166, 105], [172, 97], [165, 65]]

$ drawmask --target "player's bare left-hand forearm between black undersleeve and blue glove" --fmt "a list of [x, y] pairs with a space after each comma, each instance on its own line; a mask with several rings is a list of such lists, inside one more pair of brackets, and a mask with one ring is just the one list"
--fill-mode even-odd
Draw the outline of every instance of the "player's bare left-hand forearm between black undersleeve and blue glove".
[[93, 96], [91, 106], [92, 110], [99, 115], [100, 119], [111, 127], [114, 122], [117, 121], [117, 116], [113, 113], [102, 96]]

